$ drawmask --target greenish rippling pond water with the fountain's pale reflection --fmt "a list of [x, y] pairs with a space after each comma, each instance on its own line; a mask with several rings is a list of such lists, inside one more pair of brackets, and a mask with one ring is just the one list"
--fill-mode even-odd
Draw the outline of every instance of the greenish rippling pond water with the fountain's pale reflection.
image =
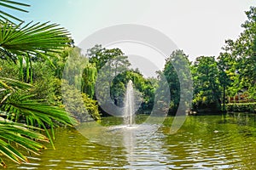
[[[145, 118], [137, 116], [137, 123]], [[167, 117], [150, 135], [124, 131], [119, 147], [92, 143], [76, 129], [58, 128], [56, 150], [48, 146], [40, 156], [30, 156], [31, 163], [7, 161], [8, 169], [256, 169], [255, 115], [188, 116], [170, 134], [172, 119]], [[102, 120], [110, 129], [119, 123], [116, 117]]]

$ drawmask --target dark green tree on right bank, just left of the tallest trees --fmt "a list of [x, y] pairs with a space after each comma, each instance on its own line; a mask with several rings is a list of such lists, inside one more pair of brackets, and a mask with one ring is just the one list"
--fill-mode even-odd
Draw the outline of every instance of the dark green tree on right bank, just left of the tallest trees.
[[194, 107], [219, 111], [221, 92], [215, 58], [206, 56], [196, 58], [192, 66], [192, 74], [194, 78]]

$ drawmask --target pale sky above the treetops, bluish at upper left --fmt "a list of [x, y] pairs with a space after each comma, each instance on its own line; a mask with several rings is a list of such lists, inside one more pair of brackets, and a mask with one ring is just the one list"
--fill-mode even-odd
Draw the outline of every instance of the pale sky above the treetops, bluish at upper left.
[[[25, 21], [51, 21], [67, 28], [76, 45], [108, 26], [149, 26], [171, 38], [190, 60], [218, 56], [224, 40], [236, 39], [253, 0], [20, 0], [31, 4]], [[136, 54], [119, 44], [124, 52]], [[125, 49], [130, 48], [129, 49]], [[146, 49], [143, 49], [147, 51]], [[150, 51], [150, 50], [148, 50]], [[151, 50], [152, 51], [152, 50]], [[147, 52], [143, 55], [152, 54]], [[150, 57], [149, 57], [150, 58]], [[154, 60], [152, 61], [155, 62]]]

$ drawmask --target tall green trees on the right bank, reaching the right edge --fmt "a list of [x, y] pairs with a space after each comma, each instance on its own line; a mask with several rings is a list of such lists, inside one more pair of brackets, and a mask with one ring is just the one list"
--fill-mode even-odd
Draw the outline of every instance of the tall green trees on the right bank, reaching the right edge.
[[236, 40], [226, 40], [218, 57], [201, 56], [192, 65], [194, 106], [225, 111], [227, 96], [243, 94], [245, 102], [256, 99], [256, 8], [246, 12], [247, 21]]

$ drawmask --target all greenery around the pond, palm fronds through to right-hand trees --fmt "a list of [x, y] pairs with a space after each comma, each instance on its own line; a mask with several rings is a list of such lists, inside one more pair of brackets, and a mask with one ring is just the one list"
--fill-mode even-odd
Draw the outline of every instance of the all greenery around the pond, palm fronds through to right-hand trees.
[[[5, 8], [23, 12], [29, 6], [2, 2]], [[129, 80], [137, 89], [141, 103], [138, 113], [153, 109], [155, 90], [163, 75], [172, 96], [170, 115], [175, 115], [179, 106], [180, 82], [189, 83], [190, 78], [194, 82], [190, 108], [193, 111], [232, 110], [226, 104], [232, 99], [236, 103], [237, 96], [239, 101], [252, 102], [255, 108], [256, 8], [250, 8], [246, 14], [247, 21], [241, 25], [244, 31], [236, 40], [226, 40], [219, 56], [200, 56], [191, 62], [183, 50], [177, 50], [166, 59], [163, 71], [157, 71], [158, 77], [143, 77], [138, 69], [131, 69], [128, 57], [119, 48], [96, 45], [82, 54], [65, 28], [49, 22], [23, 23], [12, 14], [3, 13], [0, 18], [0, 164], [6, 167], [4, 156], [17, 163], [28, 161], [20, 148], [38, 154], [44, 149], [41, 141], [50, 142], [54, 148], [54, 127], [99, 121], [101, 116], [108, 116], [101, 105], [123, 106]], [[73, 60], [69, 62], [71, 56]], [[173, 67], [174, 62], [186, 68], [179, 71]], [[83, 65], [82, 71], [74, 72]], [[191, 77], [186, 71], [191, 71]], [[182, 76], [178, 77], [177, 72]], [[102, 84], [96, 86], [99, 75]], [[104, 93], [96, 96], [96, 88], [105, 87], [110, 87], [110, 100]]]

